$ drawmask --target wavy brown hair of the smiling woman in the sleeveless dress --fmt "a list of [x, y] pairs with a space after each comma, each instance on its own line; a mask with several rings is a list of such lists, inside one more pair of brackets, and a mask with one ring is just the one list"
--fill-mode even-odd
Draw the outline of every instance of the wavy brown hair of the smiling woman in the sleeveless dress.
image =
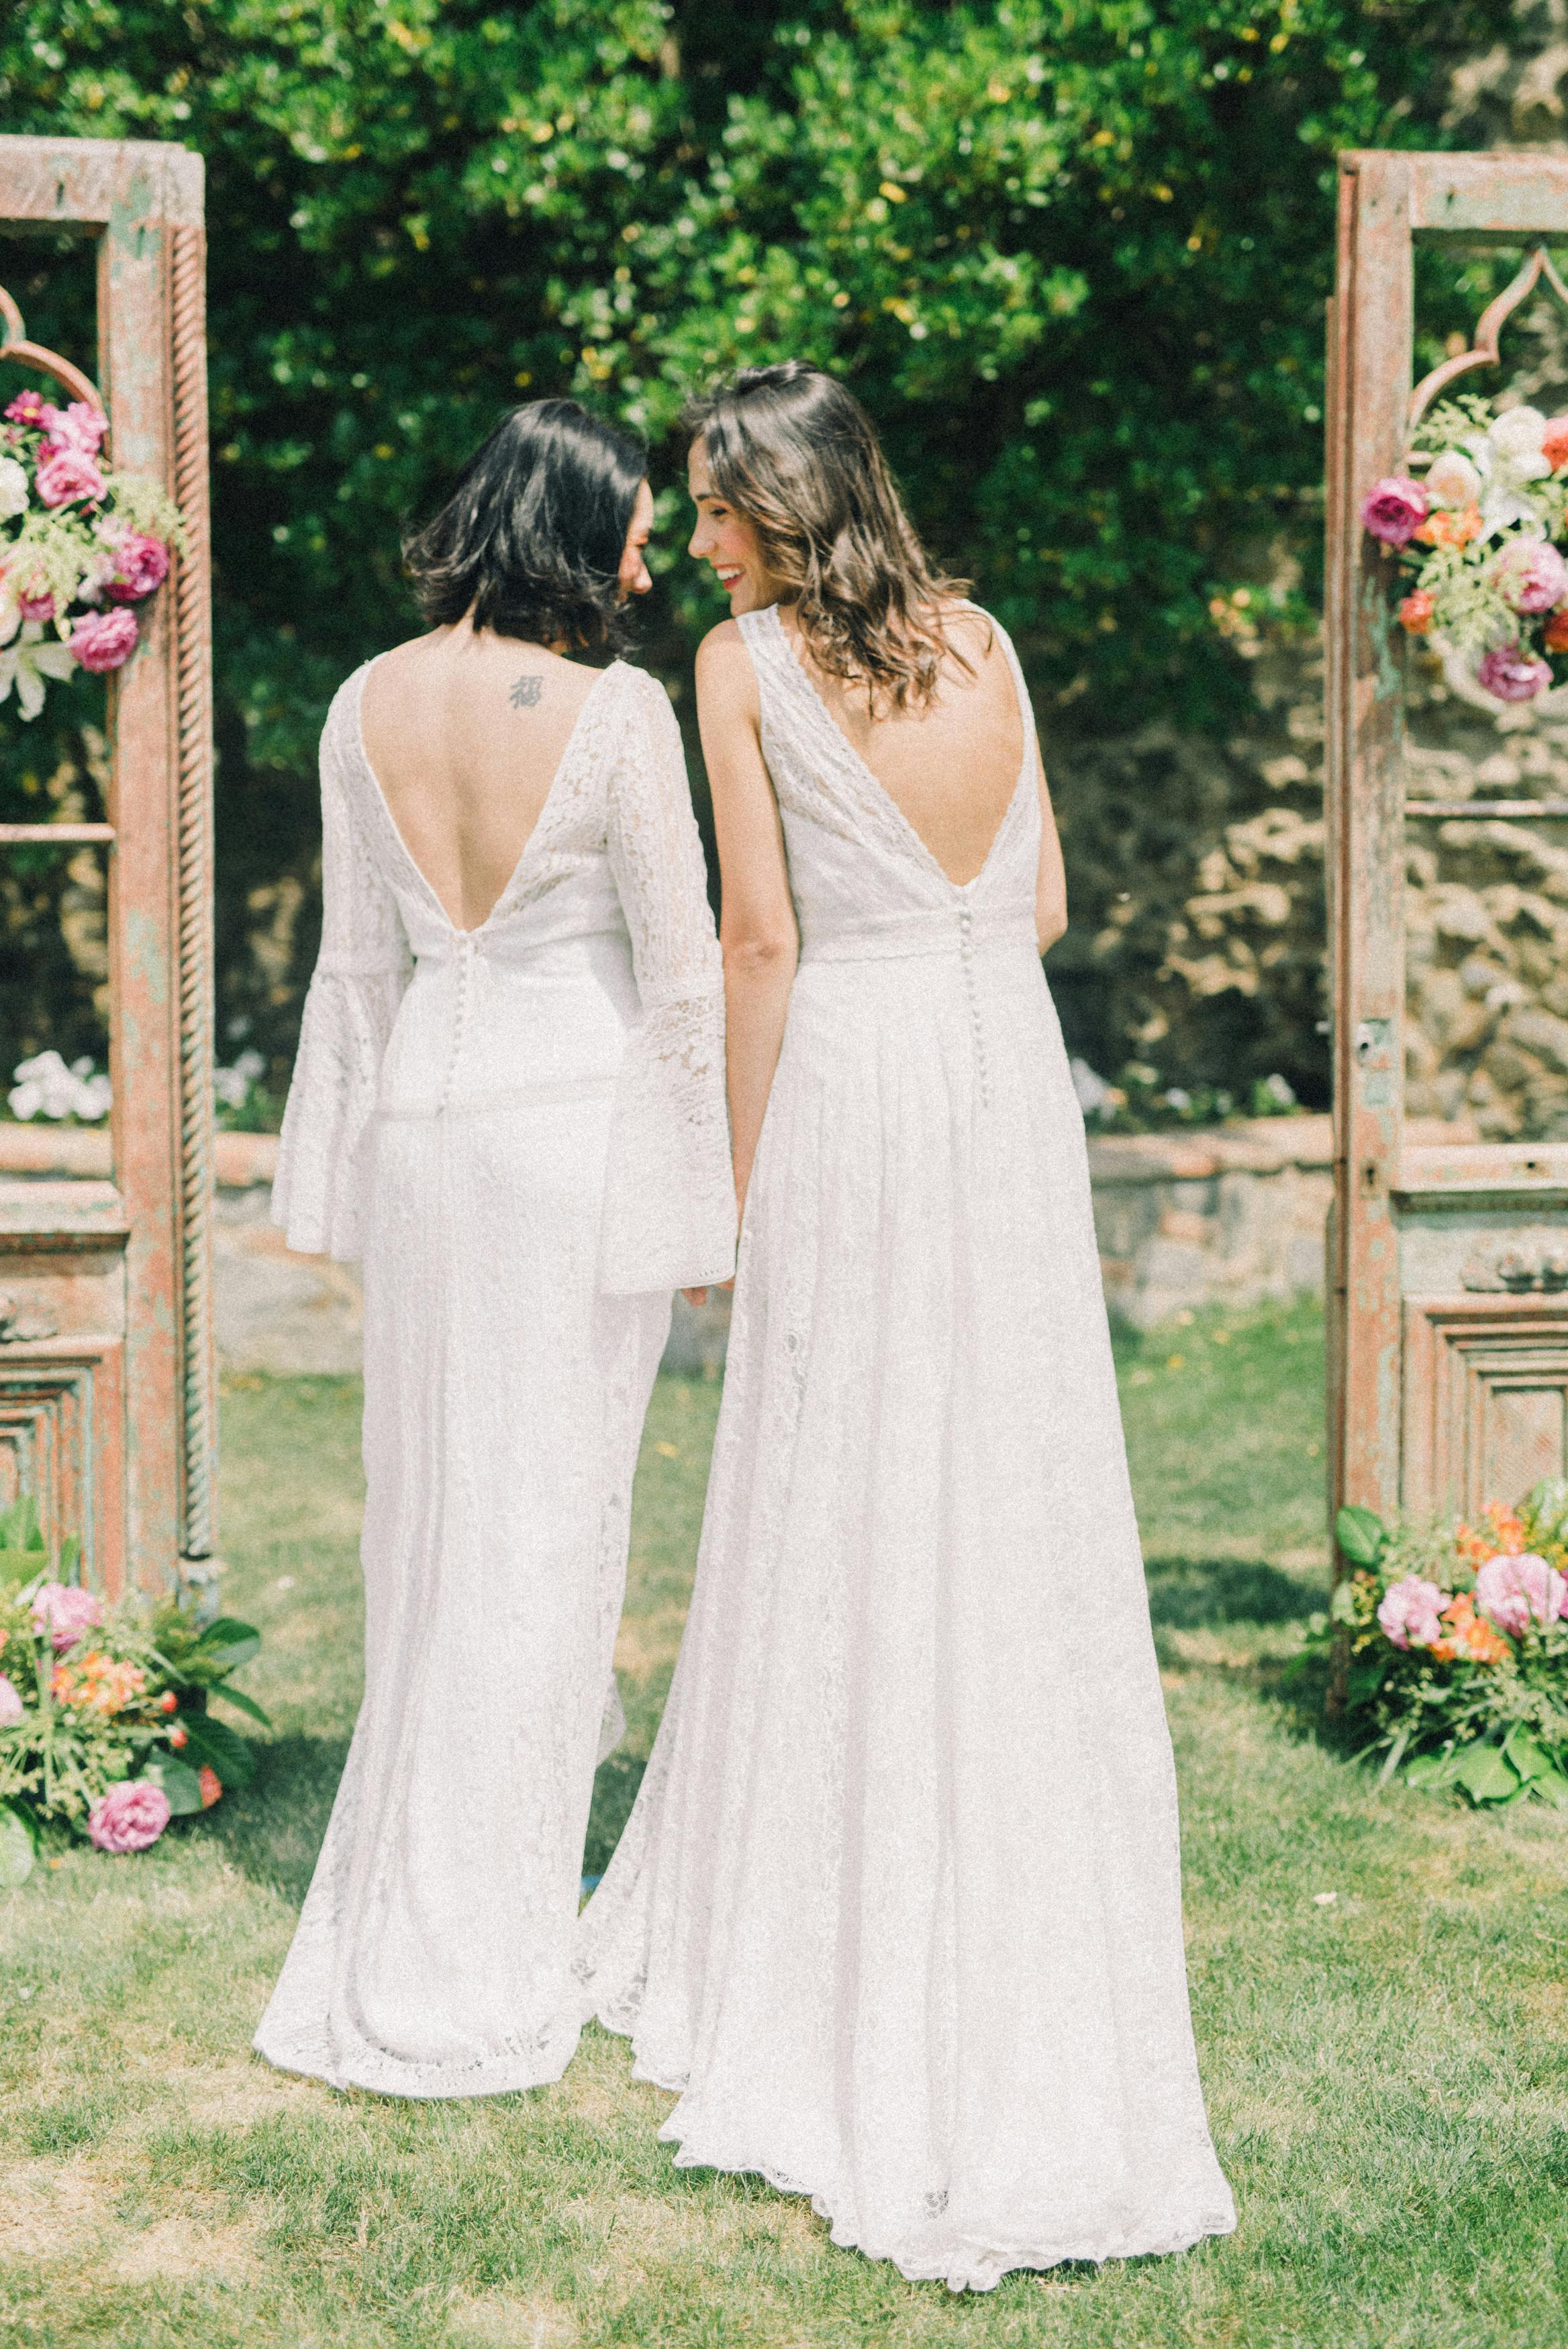
[[971, 662], [943, 627], [966, 580], [936, 571], [910, 526], [860, 402], [820, 366], [743, 366], [686, 406], [715, 491], [757, 531], [795, 599], [806, 651], [867, 705], [926, 707], [943, 662]]

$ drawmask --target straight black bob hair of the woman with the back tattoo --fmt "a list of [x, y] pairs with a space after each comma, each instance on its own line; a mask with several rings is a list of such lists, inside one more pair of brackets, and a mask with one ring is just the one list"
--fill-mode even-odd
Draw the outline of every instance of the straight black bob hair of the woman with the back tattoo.
[[402, 559], [433, 627], [597, 651], [621, 641], [616, 587], [644, 451], [576, 399], [529, 399], [468, 458]]

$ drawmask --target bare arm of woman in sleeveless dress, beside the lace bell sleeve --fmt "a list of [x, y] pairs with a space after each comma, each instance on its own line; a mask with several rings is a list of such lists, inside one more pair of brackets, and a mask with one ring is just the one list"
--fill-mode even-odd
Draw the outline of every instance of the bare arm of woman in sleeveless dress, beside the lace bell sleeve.
[[703, 639], [696, 655], [696, 707], [724, 886], [719, 947], [729, 1137], [736, 1203], [743, 1210], [790, 1010], [799, 930], [778, 801], [762, 759], [757, 677], [733, 620]]

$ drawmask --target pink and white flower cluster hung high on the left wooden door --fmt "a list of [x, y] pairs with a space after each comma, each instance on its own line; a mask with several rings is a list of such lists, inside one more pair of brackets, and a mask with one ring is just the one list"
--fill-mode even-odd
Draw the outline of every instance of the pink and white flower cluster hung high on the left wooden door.
[[169, 547], [186, 543], [162, 489], [103, 460], [106, 432], [89, 402], [61, 409], [38, 392], [0, 420], [0, 702], [14, 686], [24, 719], [49, 679], [129, 660], [132, 604], [162, 587]]

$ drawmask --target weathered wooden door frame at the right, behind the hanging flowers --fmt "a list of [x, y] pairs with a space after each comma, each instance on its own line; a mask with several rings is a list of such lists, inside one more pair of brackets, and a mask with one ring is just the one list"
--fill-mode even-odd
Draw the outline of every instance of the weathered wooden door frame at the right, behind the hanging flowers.
[[[1401, 472], [1408, 449], [1413, 244], [1542, 237], [1568, 237], [1568, 157], [1340, 157], [1328, 322], [1328, 1423], [1333, 1506], [1378, 1513], [1474, 1513], [1568, 1473], [1568, 1144], [1443, 1146], [1403, 1132], [1406, 824], [1434, 810], [1406, 794], [1392, 566], [1359, 519], [1366, 491]], [[1497, 390], [1502, 378], [1465, 388]]]

